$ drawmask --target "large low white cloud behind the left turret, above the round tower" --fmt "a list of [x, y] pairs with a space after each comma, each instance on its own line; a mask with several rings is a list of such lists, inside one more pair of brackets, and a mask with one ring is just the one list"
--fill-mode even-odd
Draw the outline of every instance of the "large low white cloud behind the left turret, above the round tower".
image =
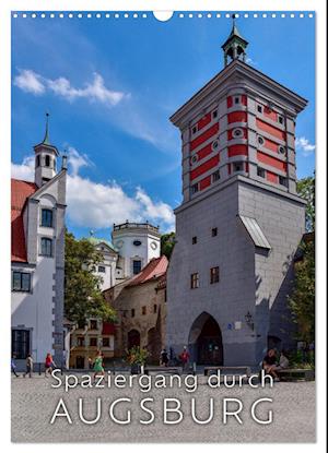
[[[148, 193], [137, 188], [128, 194], [115, 181], [94, 182], [82, 178], [79, 170], [93, 165], [85, 154], [69, 147], [69, 174], [67, 179], [67, 214], [73, 226], [87, 228], [110, 228], [113, 224], [149, 220], [161, 225], [162, 231], [174, 229], [172, 207], [153, 201]], [[12, 164], [12, 177], [34, 180], [34, 158], [24, 158], [21, 165]]]

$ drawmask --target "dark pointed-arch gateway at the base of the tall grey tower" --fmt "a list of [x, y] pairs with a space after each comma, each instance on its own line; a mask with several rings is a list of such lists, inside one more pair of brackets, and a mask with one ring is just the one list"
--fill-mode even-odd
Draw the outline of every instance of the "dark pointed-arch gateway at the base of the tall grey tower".
[[218, 322], [202, 312], [192, 323], [189, 348], [198, 365], [223, 365], [222, 334]]

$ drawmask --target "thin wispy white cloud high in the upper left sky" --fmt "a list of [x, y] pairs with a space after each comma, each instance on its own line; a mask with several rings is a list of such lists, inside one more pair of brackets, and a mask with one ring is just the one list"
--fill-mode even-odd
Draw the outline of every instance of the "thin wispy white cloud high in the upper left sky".
[[46, 79], [32, 70], [24, 69], [14, 78], [14, 85], [34, 95], [42, 95], [49, 91], [69, 102], [85, 98], [107, 106], [116, 106], [125, 97], [129, 97], [129, 94], [107, 88], [103, 76], [96, 72], [91, 83], [86, 83], [83, 88], [78, 88], [66, 78]]

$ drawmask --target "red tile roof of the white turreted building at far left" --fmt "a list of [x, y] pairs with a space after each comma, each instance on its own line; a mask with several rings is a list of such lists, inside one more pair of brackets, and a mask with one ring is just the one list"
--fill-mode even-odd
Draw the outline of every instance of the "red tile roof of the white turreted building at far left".
[[36, 190], [34, 182], [11, 180], [11, 261], [27, 261], [23, 208], [28, 196]]

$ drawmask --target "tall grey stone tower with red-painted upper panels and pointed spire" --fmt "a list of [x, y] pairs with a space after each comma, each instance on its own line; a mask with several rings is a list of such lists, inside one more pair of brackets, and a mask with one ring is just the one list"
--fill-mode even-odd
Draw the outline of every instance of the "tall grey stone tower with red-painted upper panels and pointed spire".
[[257, 366], [291, 347], [286, 296], [305, 229], [295, 121], [306, 100], [245, 63], [235, 24], [224, 69], [171, 118], [183, 203], [167, 272], [166, 343], [198, 363]]

